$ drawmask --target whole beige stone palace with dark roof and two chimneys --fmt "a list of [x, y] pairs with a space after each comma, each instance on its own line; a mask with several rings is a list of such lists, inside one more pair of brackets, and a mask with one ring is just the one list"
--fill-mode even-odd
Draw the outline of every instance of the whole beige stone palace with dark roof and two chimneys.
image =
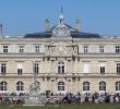
[[64, 23], [25, 36], [0, 37], [0, 93], [120, 93], [120, 37], [81, 32]]

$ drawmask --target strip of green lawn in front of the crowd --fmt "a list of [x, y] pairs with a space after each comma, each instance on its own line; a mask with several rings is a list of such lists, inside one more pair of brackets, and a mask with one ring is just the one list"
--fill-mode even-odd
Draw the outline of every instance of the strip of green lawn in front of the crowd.
[[120, 109], [120, 105], [46, 105], [46, 106], [0, 105], [0, 109]]

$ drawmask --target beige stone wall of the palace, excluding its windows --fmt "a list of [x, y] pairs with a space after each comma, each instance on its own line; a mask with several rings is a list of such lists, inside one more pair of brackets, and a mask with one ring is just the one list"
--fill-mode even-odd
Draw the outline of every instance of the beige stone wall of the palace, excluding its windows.
[[[64, 92], [83, 92], [83, 82], [87, 81], [91, 84], [89, 92], [99, 92], [99, 82], [106, 82], [106, 90], [115, 92], [116, 82], [120, 81], [120, 75], [117, 74], [116, 64], [120, 63], [120, 56], [115, 53], [115, 45], [119, 45], [120, 39], [77, 39], [67, 43], [60, 40], [64, 47], [79, 47], [79, 53], [83, 52], [83, 46], [88, 46], [87, 55], [77, 55], [72, 51], [65, 51], [59, 45], [59, 41], [51, 41], [40, 39], [3, 39], [0, 40], [0, 63], [7, 63], [7, 74], [0, 75], [0, 82], [5, 81], [8, 83], [8, 92], [16, 92], [16, 82], [24, 83], [24, 92], [29, 90], [32, 83], [33, 62], [39, 63], [39, 74], [37, 81], [40, 83], [40, 92], [51, 90], [58, 93], [58, 82], [62, 81], [65, 84]], [[19, 45], [25, 46], [25, 52], [19, 53]], [[41, 45], [40, 53], [35, 53], [35, 45]], [[53, 44], [53, 45], [52, 45]], [[9, 52], [2, 52], [2, 46], [9, 46]], [[49, 52], [49, 46], [56, 46], [57, 49], [52, 49]], [[71, 46], [72, 45], [72, 46]], [[76, 46], [77, 45], [77, 46]], [[98, 55], [98, 47], [105, 46], [105, 53]], [[58, 51], [57, 51], [58, 50]], [[59, 50], [62, 50], [59, 51]], [[52, 53], [55, 52], [55, 55]], [[92, 55], [94, 53], [94, 55]], [[108, 53], [108, 55], [106, 55]], [[64, 74], [58, 74], [58, 62], [63, 61], [65, 66]], [[17, 75], [17, 64], [23, 64], [23, 75]], [[89, 64], [88, 73], [83, 72], [83, 64]], [[99, 64], [105, 63], [106, 73], [101, 75], [99, 73]], [[72, 73], [74, 75], [72, 75]], [[75, 77], [75, 81], [73, 80]]]

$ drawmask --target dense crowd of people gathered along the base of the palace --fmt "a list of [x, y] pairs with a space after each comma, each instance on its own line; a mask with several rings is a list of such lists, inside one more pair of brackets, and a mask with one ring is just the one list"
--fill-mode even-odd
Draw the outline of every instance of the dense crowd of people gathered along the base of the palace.
[[[3, 93], [0, 94], [0, 102], [1, 104], [24, 104], [25, 98], [28, 97], [29, 94], [25, 93]], [[39, 100], [43, 104], [120, 104], [120, 94], [109, 93], [85, 93], [85, 94], [40, 94]]]

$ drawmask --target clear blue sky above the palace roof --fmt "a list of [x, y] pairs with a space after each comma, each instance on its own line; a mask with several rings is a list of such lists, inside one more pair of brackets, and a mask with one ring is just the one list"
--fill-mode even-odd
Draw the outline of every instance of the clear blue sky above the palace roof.
[[58, 23], [61, 7], [64, 22], [81, 31], [99, 35], [120, 35], [120, 0], [0, 0], [0, 22], [4, 35], [25, 35]]

